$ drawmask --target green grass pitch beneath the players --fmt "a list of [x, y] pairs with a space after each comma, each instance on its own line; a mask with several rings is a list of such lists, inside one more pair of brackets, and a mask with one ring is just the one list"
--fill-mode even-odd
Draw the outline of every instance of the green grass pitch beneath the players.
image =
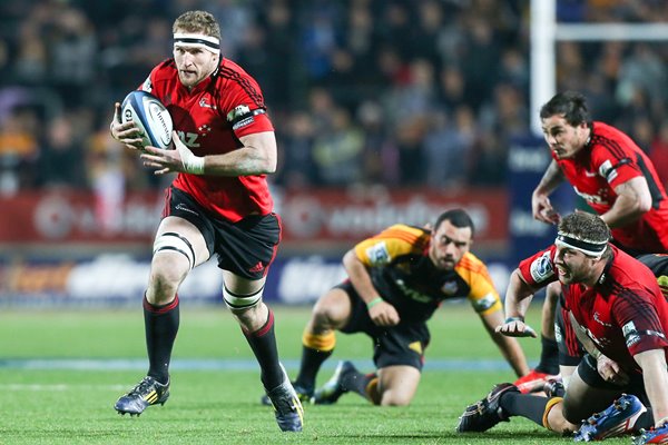
[[[275, 308], [283, 360], [294, 376], [308, 308]], [[538, 327], [538, 313], [529, 323]], [[171, 397], [140, 417], [119, 416], [116, 398], [146, 372], [137, 310], [0, 313], [0, 444], [561, 444], [522, 418], [485, 434], [458, 435], [458, 416], [493, 384], [512, 380], [482, 325], [464, 305], [446, 305], [431, 322], [432, 345], [410, 407], [379, 408], [356, 395], [333, 406], [306, 406], [302, 434], [278, 431], [261, 406], [258, 370], [238, 326], [223, 307], [181, 304]], [[337, 336], [334, 357], [370, 370], [371, 343]], [[536, 362], [539, 342], [522, 345]], [[606, 443], [630, 443], [629, 438]]]

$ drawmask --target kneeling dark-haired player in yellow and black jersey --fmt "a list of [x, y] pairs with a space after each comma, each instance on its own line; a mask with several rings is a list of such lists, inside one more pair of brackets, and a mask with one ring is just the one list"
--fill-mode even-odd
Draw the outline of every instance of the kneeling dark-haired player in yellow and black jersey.
[[[497, 334], [503, 309], [485, 265], [469, 251], [473, 221], [462, 209], [443, 212], [433, 229], [394, 225], [348, 250], [348, 279], [315, 304], [303, 336], [295, 389], [303, 399], [332, 404], [347, 392], [375, 405], [411, 403], [430, 342], [426, 320], [442, 301], [466, 297], [518, 376], [529, 373], [514, 338]], [[332, 355], [335, 332], [365, 333], [374, 342], [376, 372], [341, 362], [318, 390], [315, 378]]]

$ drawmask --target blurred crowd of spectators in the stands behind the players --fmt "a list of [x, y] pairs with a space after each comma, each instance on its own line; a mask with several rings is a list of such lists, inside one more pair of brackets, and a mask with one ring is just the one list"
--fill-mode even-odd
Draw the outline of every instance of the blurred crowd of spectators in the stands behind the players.
[[[668, 22], [665, 0], [560, 0], [569, 22]], [[498, 187], [529, 128], [528, 0], [21, 0], [0, 3], [0, 194], [164, 186], [108, 131], [115, 101], [205, 9], [262, 86], [287, 188]], [[668, 44], [562, 42], [558, 88], [668, 180]]]

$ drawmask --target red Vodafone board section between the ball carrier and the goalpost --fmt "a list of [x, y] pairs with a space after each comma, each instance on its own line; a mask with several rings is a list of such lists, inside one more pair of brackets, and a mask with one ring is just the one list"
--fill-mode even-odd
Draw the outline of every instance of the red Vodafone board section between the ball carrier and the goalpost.
[[286, 240], [358, 241], [397, 222], [424, 226], [454, 207], [473, 218], [477, 241], [508, 237], [508, 196], [502, 190], [317, 190], [287, 194], [277, 204]]

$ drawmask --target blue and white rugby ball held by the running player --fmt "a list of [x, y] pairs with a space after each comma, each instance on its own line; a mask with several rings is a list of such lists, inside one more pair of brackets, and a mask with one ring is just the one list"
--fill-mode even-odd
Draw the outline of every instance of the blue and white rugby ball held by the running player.
[[169, 148], [174, 128], [171, 116], [154, 95], [140, 90], [130, 92], [120, 106], [120, 118], [139, 127], [145, 147]]

